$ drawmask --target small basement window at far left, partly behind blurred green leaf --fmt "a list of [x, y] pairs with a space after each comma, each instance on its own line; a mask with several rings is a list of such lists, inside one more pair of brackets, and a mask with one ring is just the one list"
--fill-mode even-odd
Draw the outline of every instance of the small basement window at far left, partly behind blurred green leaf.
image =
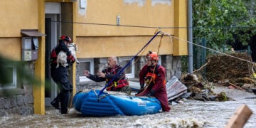
[[16, 67], [14, 65], [7, 65], [4, 67], [5, 75], [2, 76], [0, 81], [0, 89], [11, 89], [16, 88], [17, 78], [16, 78]]

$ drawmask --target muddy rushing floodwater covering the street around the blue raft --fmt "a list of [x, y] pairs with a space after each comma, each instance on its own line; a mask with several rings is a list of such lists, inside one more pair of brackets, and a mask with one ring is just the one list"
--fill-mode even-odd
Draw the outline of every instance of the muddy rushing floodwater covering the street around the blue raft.
[[226, 92], [233, 100], [228, 102], [202, 102], [185, 100], [182, 104], [170, 105], [171, 112], [144, 116], [83, 117], [78, 112], [69, 115], [47, 110], [47, 115], [1, 117], [0, 127], [225, 127], [240, 105], [247, 105], [253, 114], [245, 124], [256, 125], [256, 95], [226, 87], [215, 87], [215, 92]]

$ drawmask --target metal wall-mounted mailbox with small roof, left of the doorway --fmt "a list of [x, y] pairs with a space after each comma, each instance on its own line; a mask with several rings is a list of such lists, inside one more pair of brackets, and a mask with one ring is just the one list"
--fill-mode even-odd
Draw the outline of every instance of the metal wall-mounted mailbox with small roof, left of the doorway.
[[36, 29], [22, 29], [23, 34], [21, 40], [22, 53], [21, 58], [23, 61], [31, 61], [38, 59], [38, 37], [46, 36], [43, 33], [39, 33]]

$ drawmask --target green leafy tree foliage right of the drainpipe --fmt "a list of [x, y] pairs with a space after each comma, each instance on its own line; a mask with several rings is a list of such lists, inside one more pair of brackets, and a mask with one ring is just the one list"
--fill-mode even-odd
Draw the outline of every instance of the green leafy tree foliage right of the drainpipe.
[[255, 31], [255, 10], [248, 0], [193, 0], [193, 36], [221, 49], [233, 36], [247, 45]]

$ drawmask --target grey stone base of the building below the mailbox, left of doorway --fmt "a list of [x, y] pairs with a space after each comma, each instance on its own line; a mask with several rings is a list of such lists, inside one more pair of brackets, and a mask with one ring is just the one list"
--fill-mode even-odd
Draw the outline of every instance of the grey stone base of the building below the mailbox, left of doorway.
[[[27, 67], [34, 70], [34, 63], [28, 63]], [[17, 81], [15, 89], [0, 90], [0, 116], [8, 114], [33, 114], [33, 87], [30, 83]]]

